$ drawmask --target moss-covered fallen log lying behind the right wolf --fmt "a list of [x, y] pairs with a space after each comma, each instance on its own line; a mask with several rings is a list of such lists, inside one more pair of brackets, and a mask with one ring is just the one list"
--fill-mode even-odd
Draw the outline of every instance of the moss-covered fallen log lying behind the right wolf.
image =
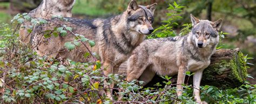
[[[126, 63], [120, 66], [119, 74], [126, 76]], [[241, 86], [246, 77], [246, 62], [239, 48], [219, 49], [212, 55], [211, 64], [204, 70], [201, 85], [216, 86], [220, 89], [235, 88]], [[185, 83], [193, 84], [192, 79], [192, 76], [189, 79], [187, 77]], [[162, 81], [164, 79], [156, 75], [146, 86], [153, 87]], [[173, 76], [171, 81], [176, 83], [177, 76]]]

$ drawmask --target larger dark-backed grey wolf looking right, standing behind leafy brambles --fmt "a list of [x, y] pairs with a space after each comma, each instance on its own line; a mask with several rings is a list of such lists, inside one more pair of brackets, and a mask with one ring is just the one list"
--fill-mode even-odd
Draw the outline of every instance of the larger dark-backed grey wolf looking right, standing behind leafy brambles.
[[[126, 11], [108, 19], [65, 18], [65, 21], [54, 18], [52, 20], [56, 22], [48, 21], [48, 24], [35, 28], [32, 34], [32, 44], [41, 56], [69, 58], [76, 62], [92, 61], [92, 57], [84, 57], [84, 54], [88, 52], [85, 46], [71, 51], [64, 47], [65, 42], [75, 39], [70, 32], [66, 36], [44, 38], [46, 30], [53, 31], [55, 27], [60, 26], [59, 24], [73, 27], [73, 33], [95, 41], [96, 46], [90, 50], [97, 53], [99, 60], [103, 62], [103, 66], [106, 68], [104, 75], [116, 74], [120, 64], [130, 57], [132, 51], [145, 39], [147, 34], [154, 31], [152, 23], [156, 7], [157, 3], [142, 6], [138, 5], [136, 1], [131, 1]], [[110, 87], [113, 87], [113, 84]], [[107, 95], [110, 97], [110, 93]]]

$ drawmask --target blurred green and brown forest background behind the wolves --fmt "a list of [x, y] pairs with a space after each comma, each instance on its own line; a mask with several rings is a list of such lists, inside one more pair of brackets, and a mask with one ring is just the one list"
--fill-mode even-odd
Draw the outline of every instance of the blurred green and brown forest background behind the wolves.
[[[126, 10], [130, 0], [76, 0], [72, 10], [73, 17], [80, 19], [107, 18]], [[173, 0], [140, 0], [140, 5], [158, 3], [154, 14], [154, 27], [160, 26], [161, 21], [167, 20], [166, 10]], [[190, 13], [200, 19], [224, 20], [221, 31], [229, 33], [222, 42], [222, 48], [240, 48], [248, 57], [249, 62], [256, 64], [256, 0], [177, 0], [178, 4], [186, 6], [174, 27], [177, 32], [181, 26], [191, 23]], [[10, 20], [17, 13], [30, 12], [41, 3], [40, 0], [0, 0], [0, 22], [10, 24]], [[1, 38], [1, 35], [0, 35]], [[1, 42], [1, 41], [0, 41]], [[250, 65], [248, 73], [256, 78], [256, 66]], [[256, 84], [254, 79], [248, 79]]]

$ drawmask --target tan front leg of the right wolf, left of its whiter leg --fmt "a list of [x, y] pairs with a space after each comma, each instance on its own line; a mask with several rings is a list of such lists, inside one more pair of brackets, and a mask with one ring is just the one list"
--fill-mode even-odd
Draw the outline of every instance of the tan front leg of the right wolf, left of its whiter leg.
[[183, 86], [181, 84], [184, 84], [185, 80], [185, 72], [187, 71], [186, 65], [179, 66], [178, 70], [178, 79], [177, 79], [177, 95], [180, 96], [183, 91]]

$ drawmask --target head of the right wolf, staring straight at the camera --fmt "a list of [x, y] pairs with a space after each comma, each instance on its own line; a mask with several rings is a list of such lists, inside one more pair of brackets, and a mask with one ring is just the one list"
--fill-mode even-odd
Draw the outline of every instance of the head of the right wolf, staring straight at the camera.
[[222, 20], [215, 22], [208, 20], [199, 20], [191, 14], [192, 21], [192, 40], [199, 48], [204, 48], [207, 45], [217, 44], [219, 42], [218, 31], [221, 27]]

